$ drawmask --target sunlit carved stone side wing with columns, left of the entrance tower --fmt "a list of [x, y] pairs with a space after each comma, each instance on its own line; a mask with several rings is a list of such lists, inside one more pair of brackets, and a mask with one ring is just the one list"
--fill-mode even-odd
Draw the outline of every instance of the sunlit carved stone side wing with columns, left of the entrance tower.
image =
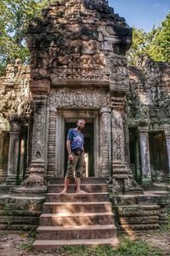
[[14, 65], [7, 65], [6, 74], [0, 80], [0, 180], [3, 183], [14, 169], [15, 175], [20, 176], [17, 174], [20, 141], [28, 129], [31, 111], [29, 80], [30, 66], [22, 65], [20, 60], [16, 60]]

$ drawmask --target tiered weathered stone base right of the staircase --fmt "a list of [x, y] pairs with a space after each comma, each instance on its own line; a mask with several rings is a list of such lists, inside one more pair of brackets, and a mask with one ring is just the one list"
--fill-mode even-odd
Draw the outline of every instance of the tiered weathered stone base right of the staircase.
[[[144, 191], [141, 195], [119, 195], [115, 211], [119, 230], [156, 230], [167, 223], [169, 191]], [[114, 203], [113, 203], [114, 205]]]

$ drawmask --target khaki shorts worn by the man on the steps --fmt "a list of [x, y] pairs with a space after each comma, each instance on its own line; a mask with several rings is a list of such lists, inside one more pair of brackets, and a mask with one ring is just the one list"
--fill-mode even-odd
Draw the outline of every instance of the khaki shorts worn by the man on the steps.
[[83, 153], [81, 155], [75, 155], [72, 152], [73, 161], [68, 161], [67, 163], [67, 172], [65, 174], [66, 177], [72, 178], [74, 174], [77, 178], [82, 177], [82, 164], [83, 164]]

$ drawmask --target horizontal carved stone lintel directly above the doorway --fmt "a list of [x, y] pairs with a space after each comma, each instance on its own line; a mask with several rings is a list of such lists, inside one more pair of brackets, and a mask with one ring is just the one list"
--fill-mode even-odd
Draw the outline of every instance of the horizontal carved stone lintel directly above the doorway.
[[59, 88], [51, 90], [48, 101], [50, 106], [64, 109], [99, 109], [110, 104], [110, 96], [105, 89]]

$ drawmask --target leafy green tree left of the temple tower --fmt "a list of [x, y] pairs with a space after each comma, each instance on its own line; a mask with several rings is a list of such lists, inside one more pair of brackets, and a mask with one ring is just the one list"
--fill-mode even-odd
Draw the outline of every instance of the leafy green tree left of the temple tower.
[[48, 0], [1, 0], [0, 2], [0, 74], [16, 58], [29, 60], [24, 40], [31, 19], [41, 14]]

